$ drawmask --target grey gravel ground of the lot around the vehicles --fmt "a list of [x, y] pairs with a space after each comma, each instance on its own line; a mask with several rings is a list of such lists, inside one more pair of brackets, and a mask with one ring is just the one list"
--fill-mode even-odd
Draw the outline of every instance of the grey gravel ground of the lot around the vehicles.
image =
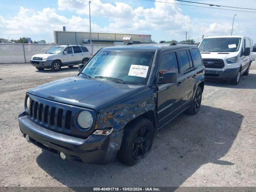
[[132, 167], [63, 161], [22, 137], [26, 91], [68, 76], [68, 68], [0, 65], [0, 186], [256, 186], [256, 62], [237, 86], [207, 81], [200, 112], [157, 132], [149, 156]]

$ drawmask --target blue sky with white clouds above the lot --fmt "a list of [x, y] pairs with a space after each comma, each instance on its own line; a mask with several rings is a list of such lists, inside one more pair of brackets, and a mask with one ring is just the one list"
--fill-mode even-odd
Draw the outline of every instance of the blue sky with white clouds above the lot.
[[[163, 0], [178, 3], [174, 0]], [[118, 3], [117, 3], [118, 2]], [[255, 0], [198, 0], [226, 6], [256, 8]], [[0, 38], [53, 42], [53, 31], [88, 31], [88, 0], [0, 0]], [[184, 3], [185, 4], [185, 3]], [[186, 3], [189, 4], [189, 3]], [[192, 4], [193, 5], [193, 4]], [[184, 40], [185, 32], [194, 40], [205, 36], [230, 35], [233, 15], [234, 35], [256, 37], [256, 13], [245, 13], [210, 8], [197, 8], [146, 0], [92, 0], [92, 31], [151, 34], [152, 40]]]

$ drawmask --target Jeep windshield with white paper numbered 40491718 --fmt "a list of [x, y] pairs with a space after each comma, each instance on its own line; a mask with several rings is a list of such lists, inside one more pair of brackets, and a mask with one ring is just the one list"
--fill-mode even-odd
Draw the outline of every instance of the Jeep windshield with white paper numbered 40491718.
[[118, 79], [126, 84], [146, 84], [153, 57], [154, 52], [102, 50], [93, 56], [79, 76], [86, 74], [93, 78]]

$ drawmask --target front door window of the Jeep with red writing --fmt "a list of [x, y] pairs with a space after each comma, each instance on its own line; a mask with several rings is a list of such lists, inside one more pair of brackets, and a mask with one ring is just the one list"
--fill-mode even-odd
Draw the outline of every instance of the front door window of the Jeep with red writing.
[[162, 74], [166, 71], [176, 71], [177, 73], [179, 73], [178, 62], [175, 52], [164, 54], [161, 58], [158, 70], [159, 76], [161, 77]]

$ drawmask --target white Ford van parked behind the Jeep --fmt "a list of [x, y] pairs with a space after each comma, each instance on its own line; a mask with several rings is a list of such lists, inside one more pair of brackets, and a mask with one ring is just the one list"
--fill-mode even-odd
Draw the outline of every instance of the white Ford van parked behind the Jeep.
[[205, 66], [205, 78], [230, 80], [237, 85], [240, 75], [248, 75], [252, 40], [245, 36], [204, 38], [199, 49]]

